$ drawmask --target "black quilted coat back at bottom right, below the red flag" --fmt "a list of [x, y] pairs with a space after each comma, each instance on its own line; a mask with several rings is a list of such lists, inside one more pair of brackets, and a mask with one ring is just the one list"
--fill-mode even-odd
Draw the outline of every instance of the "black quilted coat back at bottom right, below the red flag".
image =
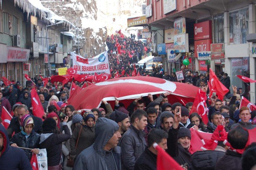
[[214, 170], [216, 162], [223, 157], [222, 151], [197, 151], [191, 155], [191, 170]]

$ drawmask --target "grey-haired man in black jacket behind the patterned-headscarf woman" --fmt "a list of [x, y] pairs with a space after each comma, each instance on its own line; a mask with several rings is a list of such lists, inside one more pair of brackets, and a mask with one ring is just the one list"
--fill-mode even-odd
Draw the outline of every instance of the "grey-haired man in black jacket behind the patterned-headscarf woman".
[[[28, 112], [28, 107], [24, 104], [22, 105], [19, 105], [17, 107], [17, 112], [18, 112], [18, 117], [14, 117], [11, 119], [11, 123], [10, 125], [8, 126], [7, 128], [7, 133], [8, 133], [8, 137], [11, 138], [11, 135], [13, 134], [13, 132], [16, 133], [19, 133], [21, 131], [20, 129], [20, 119], [21, 117], [23, 117], [23, 115], [26, 115], [26, 114], [29, 114]], [[41, 118], [39, 117], [35, 117], [35, 116], [31, 116], [34, 120], [34, 128], [33, 130], [40, 134], [42, 133], [43, 129], [42, 129], [42, 124], [43, 124], [43, 121]]]

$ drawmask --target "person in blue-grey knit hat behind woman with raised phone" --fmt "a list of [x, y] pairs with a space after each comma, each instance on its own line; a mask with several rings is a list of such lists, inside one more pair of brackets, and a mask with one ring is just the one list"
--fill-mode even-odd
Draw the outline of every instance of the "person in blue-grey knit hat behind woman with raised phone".
[[[80, 114], [75, 114], [72, 116], [72, 120], [67, 123], [68, 128], [70, 130], [70, 134], [73, 134], [73, 131], [75, 130], [76, 126], [83, 120], [83, 117]], [[64, 133], [64, 131], [62, 132]], [[65, 170], [72, 170], [73, 168], [67, 167], [66, 163], [68, 161], [68, 154], [70, 152], [70, 140], [67, 140], [65, 142], [62, 142], [62, 152], [65, 155], [64, 159], [64, 169]]]

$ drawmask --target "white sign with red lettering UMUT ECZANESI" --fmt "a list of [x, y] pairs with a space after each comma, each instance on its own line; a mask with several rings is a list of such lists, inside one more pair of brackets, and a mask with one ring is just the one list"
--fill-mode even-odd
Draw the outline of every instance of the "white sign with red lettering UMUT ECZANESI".
[[29, 49], [20, 49], [18, 47], [6, 47], [7, 62], [28, 62]]

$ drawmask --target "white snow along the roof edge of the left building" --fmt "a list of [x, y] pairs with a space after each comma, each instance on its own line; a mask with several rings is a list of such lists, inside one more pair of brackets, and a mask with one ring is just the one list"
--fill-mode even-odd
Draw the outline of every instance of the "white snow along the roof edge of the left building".
[[[18, 0], [18, 1], [22, 1], [22, 0]], [[46, 20], [50, 21], [51, 23], [55, 23], [57, 21], [63, 21], [65, 24], [68, 24], [69, 26], [76, 28], [76, 26], [74, 24], [72, 24], [70, 21], [66, 20], [63, 16], [58, 16], [53, 11], [49, 10], [48, 8], [45, 8], [42, 5], [40, 0], [28, 0], [28, 1], [32, 5], [34, 5], [36, 8], [38, 8], [39, 10], [44, 11], [47, 14], [47, 17], [44, 17], [44, 18]]]

